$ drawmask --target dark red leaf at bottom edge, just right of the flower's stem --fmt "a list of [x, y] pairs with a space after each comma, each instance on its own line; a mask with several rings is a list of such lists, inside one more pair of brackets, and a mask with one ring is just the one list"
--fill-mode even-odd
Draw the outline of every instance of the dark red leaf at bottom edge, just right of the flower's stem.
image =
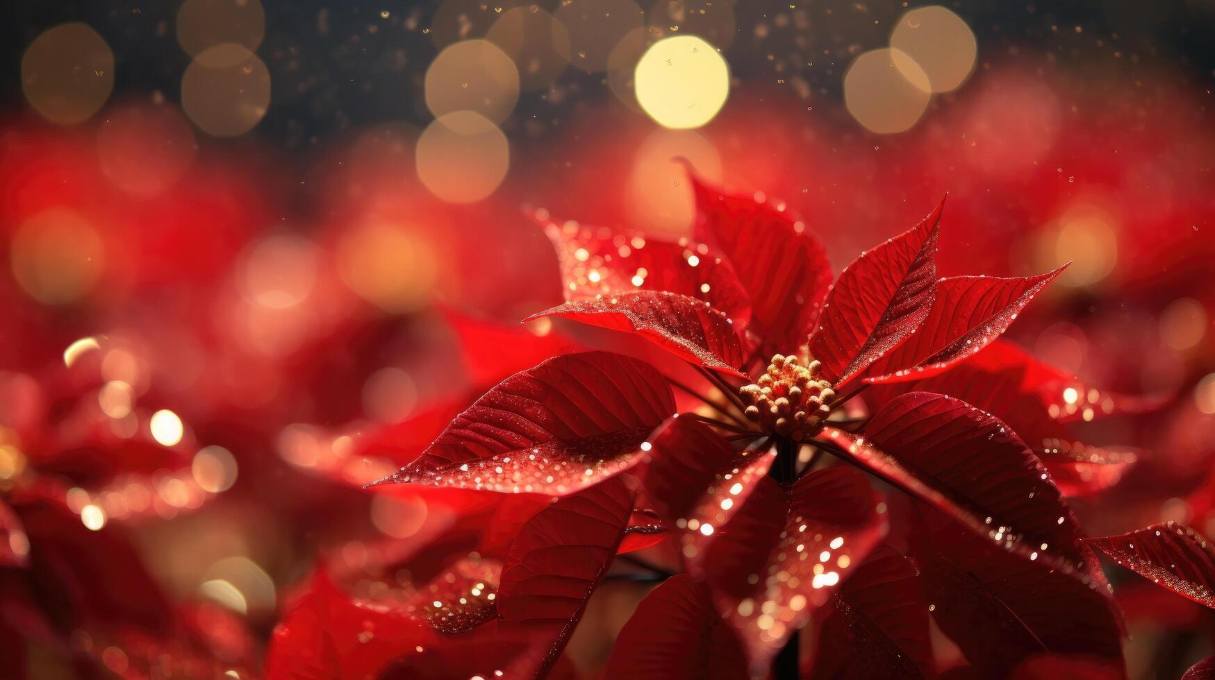
[[826, 607], [810, 678], [922, 678], [932, 670], [928, 604], [911, 560], [880, 545]]

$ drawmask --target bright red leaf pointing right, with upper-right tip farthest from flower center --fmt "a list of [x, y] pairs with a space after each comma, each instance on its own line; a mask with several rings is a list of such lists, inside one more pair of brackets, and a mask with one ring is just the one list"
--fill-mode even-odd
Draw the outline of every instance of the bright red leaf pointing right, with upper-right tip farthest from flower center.
[[874, 362], [866, 382], [929, 378], [966, 361], [1012, 325], [1017, 314], [1058, 276], [1025, 278], [951, 277], [937, 282], [937, 299], [923, 325]]

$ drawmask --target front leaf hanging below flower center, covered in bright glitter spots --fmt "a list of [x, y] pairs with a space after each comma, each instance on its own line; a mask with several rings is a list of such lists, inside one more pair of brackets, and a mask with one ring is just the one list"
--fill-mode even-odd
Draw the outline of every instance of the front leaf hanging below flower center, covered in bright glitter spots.
[[739, 630], [752, 673], [769, 667], [882, 539], [878, 501], [850, 467], [813, 471], [789, 491], [762, 477], [741, 510], [685, 548], [690, 573], [705, 574], [718, 611]]

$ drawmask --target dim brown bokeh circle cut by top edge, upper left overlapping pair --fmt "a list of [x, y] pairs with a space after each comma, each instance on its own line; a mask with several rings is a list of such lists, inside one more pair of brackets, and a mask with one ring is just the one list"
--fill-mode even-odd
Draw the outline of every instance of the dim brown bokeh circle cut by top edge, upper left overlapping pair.
[[[186, 0], [177, 10], [177, 44], [191, 57], [231, 42], [255, 51], [266, 35], [266, 11], [260, 0]], [[208, 66], [233, 66], [233, 52], [208, 55]]]

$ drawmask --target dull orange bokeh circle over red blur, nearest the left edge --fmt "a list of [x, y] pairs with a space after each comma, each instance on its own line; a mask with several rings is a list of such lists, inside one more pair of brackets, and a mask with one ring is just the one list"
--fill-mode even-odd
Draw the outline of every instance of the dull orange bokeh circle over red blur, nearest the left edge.
[[22, 290], [40, 302], [63, 305], [92, 290], [104, 264], [104, 245], [80, 215], [50, 208], [17, 228], [10, 256]]

